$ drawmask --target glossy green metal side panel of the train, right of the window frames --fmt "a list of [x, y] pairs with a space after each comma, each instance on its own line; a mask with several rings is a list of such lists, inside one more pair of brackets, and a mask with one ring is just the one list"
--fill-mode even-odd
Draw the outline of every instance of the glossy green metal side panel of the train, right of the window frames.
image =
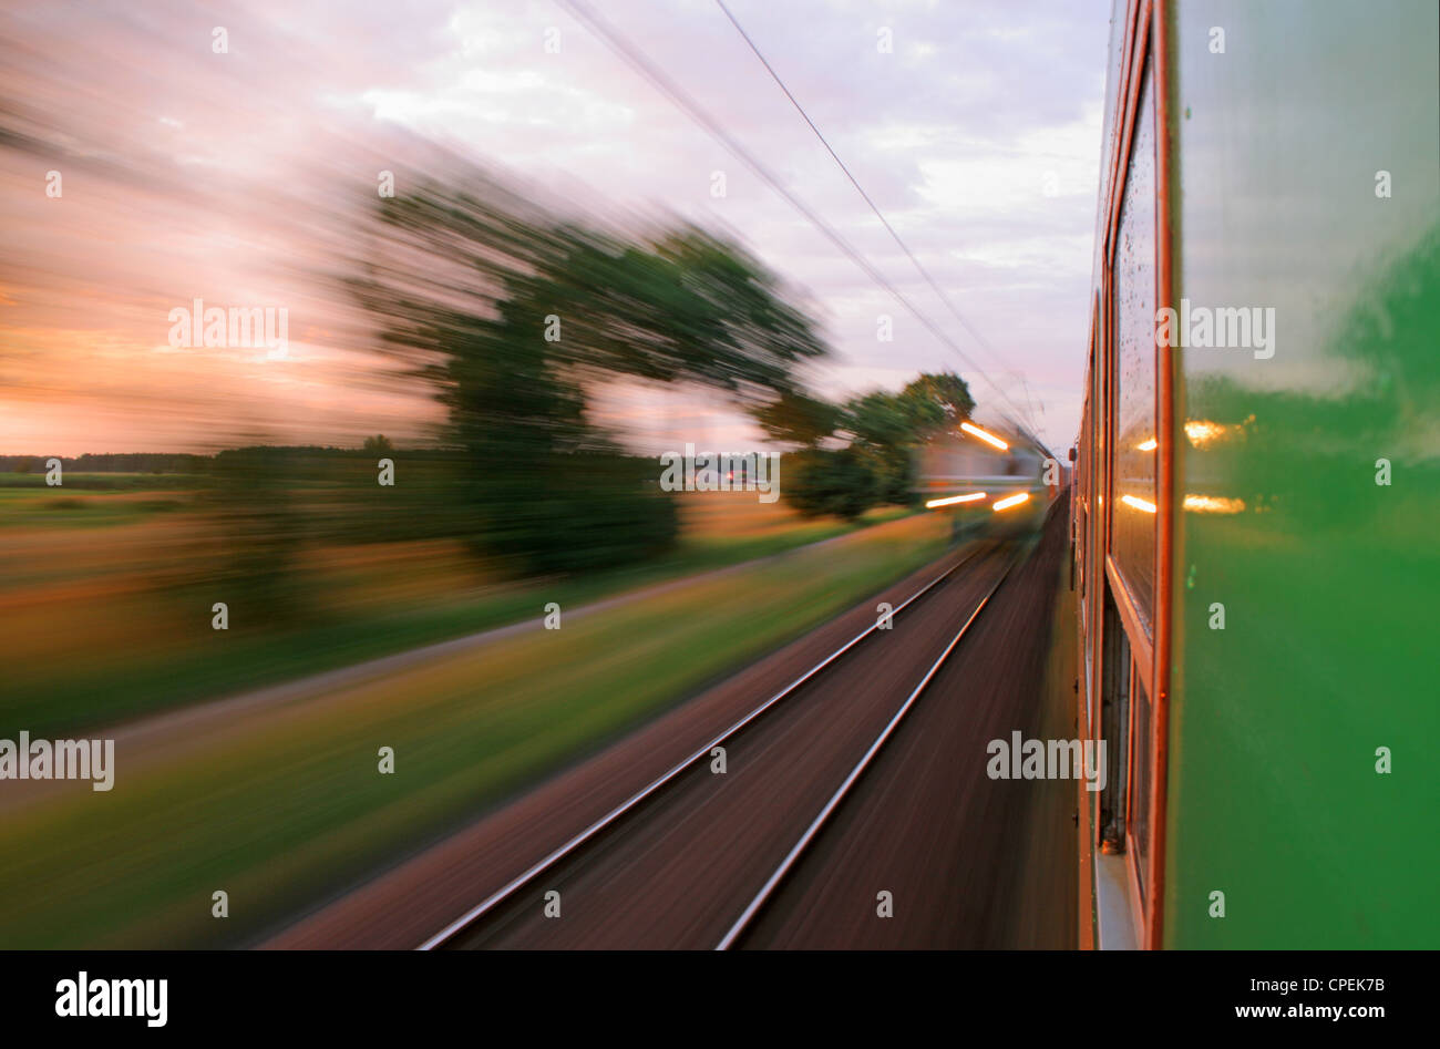
[[1174, 295], [1274, 339], [1171, 356], [1165, 944], [1440, 947], [1437, 4], [1166, 13]]

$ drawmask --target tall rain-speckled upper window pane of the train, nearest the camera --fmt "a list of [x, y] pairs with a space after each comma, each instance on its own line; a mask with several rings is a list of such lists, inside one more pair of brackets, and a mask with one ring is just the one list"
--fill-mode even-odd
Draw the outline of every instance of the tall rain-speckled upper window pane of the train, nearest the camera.
[[1155, 86], [1140, 76], [1130, 163], [1115, 238], [1115, 473], [1110, 501], [1116, 568], [1152, 634], [1155, 610]]

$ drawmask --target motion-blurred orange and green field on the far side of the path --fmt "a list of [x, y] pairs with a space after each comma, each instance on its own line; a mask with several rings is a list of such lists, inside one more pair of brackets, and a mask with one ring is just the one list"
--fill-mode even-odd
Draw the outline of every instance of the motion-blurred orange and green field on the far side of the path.
[[[95, 487], [96, 483], [108, 487]], [[304, 542], [305, 614], [212, 628], [223, 555], [183, 476], [0, 474], [0, 728], [58, 735], [272, 684], [779, 553], [852, 530], [753, 493], [688, 494], [671, 555], [576, 579], [516, 582], [452, 540]], [[22, 487], [23, 486], [23, 487]], [[73, 486], [73, 491], [71, 487]], [[865, 524], [903, 512], [871, 513]]]

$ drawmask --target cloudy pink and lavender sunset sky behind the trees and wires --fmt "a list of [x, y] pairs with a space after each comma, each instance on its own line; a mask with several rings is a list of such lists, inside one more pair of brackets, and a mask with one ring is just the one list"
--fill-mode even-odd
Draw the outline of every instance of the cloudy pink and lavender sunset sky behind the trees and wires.
[[[6, 0], [0, 452], [428, 439], [436, 406], [356, 334], [333, 278], [379, 171], [397, 174], [400, 195], [446, 156], [562, 207], [733, 236], [819, 320], [834, 353], [806, 378], [827, 396], [952, 369], [981, 418], [1008, 398], [1047, 444], [1068, 447], [1109, 4], [727, 4], [985, 346], [714, 0], [595, 10], [969, 362], [554, 0]], [[196, 298], [285, 307], [284, 354], [170, 344], [170, 311]], [[878, 339], [883, 316], [893, 342]], [[759, 444], [696, 390], [616, 386], [595, 412], [644, 451]]]

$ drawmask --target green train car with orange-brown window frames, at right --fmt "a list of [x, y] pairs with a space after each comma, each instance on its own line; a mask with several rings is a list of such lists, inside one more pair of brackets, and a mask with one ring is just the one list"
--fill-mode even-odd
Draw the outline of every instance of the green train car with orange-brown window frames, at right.
[[1081, 938], [1440, 947], [1440, 6], [1117, 0], [1103, 146]]

